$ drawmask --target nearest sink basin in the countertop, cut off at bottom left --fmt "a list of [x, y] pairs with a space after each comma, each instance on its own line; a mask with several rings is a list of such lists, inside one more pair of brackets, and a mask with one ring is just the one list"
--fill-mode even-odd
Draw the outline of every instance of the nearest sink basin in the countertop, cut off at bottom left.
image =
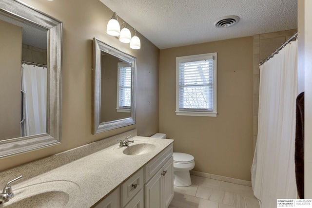
[[14, 189], [14, 197], [3, 208], [75, 207], [79, 186], [71, 181], [48, 181]]

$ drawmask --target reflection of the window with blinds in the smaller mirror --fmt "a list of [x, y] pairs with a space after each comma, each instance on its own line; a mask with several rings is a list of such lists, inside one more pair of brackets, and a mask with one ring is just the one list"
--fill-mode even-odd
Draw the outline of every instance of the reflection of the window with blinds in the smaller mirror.
[[129, 113], [131, 108], [131, 65], [118, 63], [117, 112]]

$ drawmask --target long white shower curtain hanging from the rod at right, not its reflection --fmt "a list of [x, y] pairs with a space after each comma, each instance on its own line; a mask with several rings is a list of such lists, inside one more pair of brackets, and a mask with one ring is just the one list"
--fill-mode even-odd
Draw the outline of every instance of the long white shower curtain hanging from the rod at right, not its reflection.
[[252, 186], [261, 208], [297, 198], [294, 165], [297, 40], [260, 66], [258, 137]]

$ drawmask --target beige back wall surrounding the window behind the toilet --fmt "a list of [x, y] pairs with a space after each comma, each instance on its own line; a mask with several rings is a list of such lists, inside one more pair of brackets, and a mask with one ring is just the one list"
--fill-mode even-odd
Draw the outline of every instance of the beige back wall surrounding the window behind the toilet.
[[[176, 57], [217, 52], [217, 117], [176, 116]], [[174, 151], [194, 155], [194, 170], [251, 180], [253, 37], [160, 50], [159, 132]]]

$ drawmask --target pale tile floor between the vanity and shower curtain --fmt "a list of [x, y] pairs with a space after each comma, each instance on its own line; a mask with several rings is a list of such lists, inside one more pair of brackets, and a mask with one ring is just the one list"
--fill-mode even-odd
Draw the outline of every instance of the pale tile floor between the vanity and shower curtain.
[[260, 208], [251, 187], [191, 175], [192, 185], [175, 187], [169, 208]]

